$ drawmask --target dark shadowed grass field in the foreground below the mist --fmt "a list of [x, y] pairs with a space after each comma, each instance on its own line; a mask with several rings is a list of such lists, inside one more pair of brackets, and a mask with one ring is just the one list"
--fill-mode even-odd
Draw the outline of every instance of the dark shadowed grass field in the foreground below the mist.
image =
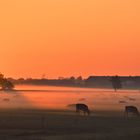
[[0, 111], [0, 140], [139, 140], [140, 118], [95, 111], [78, 116], [65, 110]]

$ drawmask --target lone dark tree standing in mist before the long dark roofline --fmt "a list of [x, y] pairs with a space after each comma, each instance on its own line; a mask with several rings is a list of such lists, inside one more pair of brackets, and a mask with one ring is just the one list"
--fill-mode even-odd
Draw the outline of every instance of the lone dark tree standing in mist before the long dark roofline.
[[112, 86], [115, 90], [115, 92], [117, 91], [117, 89], [120, 89], [122, 88], [122, 83], [121, 83], [121, 80], [120, 80], [120, 77], [119, 76], [112, 76], [111, 77], [111, 82], [112, 82]]

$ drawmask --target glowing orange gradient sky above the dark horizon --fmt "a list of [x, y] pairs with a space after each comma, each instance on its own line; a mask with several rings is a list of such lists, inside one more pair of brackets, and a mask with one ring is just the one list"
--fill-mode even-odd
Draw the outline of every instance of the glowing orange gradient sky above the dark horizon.
[[1, 0], [0, 72], [140, 75], [140, 0]]

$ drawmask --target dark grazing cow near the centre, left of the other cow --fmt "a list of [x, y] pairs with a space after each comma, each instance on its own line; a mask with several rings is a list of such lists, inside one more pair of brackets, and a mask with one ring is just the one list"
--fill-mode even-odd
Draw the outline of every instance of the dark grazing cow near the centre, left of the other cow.
[[85, 104], [76, 104], [76, 112], [79, 113], [80, 111], [82, 111], [84, 113], [84, 115], [90, 115], [90, 111], [88, 109], [88, 106]]

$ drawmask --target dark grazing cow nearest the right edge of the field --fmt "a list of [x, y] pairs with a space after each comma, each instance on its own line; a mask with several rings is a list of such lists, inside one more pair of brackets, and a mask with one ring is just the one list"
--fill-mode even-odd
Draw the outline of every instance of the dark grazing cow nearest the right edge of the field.
[[129, 113], [132, 113], [133, 115], [139, 116], [139, 111], [138, 111], [137, 107], [135, 107], [135, 106], [126, 106], [125, 113], [126, 113], [127, 117], [129, 115]]

